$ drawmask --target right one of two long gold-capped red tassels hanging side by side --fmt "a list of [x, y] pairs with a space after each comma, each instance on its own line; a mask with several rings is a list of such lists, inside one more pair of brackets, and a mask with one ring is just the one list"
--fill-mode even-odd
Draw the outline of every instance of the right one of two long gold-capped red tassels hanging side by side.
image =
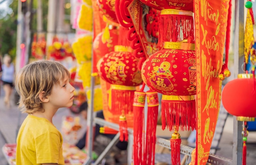
[[146, 92], [148, 110], [147, 110], [147, 132], [146, 144], [144, 151], [144, 165], [155, 164], [155, 149], [156, 149], [156, 128], [158, 119], [158, 96], [157, 92], [149, 90]]

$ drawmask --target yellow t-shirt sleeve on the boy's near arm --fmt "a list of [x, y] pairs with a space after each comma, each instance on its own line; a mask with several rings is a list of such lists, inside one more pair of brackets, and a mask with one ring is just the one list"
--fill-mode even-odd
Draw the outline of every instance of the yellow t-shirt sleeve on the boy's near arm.
[[58, 163], [61, 150], [60, 136], [48, 132], [35, 139], [36, 163]]

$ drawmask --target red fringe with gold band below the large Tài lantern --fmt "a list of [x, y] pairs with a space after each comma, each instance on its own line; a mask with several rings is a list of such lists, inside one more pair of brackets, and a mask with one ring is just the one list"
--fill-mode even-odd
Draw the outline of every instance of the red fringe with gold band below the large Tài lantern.
[[177, 130], [179, 127], [182, 131], [194, 130], [196, 128], [195, 100], [182, 100], [181, 96], [174, 96], [180, 100], [168, 100], [168, 97], [166, 95], [162, 97], [162, 129], [165, 129], [167, 119], [167, 128], [170, 131], [173, 131], [175, 126]]

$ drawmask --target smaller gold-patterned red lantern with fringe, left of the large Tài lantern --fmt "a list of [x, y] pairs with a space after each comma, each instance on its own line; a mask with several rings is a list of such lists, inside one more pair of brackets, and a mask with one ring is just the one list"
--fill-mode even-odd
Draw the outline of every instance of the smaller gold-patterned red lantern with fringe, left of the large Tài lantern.
[[119, 123], [120, 140], [127, 141], [127, 127], [133, 127], [133, 96], [135, 86], [143, 83], [139, 60], [127, 47], [116, 45], [115, 51], [106, 54], [97, 64], [99, 75], [111, 83], [109, 92], [109, 120]]

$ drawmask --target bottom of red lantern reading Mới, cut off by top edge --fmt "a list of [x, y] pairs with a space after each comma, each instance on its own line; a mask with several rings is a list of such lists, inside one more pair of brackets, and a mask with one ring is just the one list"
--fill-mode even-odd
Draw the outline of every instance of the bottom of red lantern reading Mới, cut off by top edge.
[[193, 0], [140, 0], [142, 3], [158, 10], [179, 9], [186, 11], [194, 10]]

